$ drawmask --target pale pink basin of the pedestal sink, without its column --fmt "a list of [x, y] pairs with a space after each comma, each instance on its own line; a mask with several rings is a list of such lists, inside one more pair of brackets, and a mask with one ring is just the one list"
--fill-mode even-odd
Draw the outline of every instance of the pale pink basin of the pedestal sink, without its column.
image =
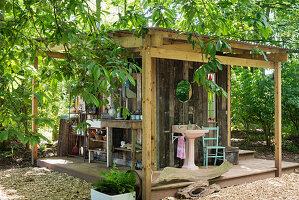
[[196, 126], [196, 124], [191, 124], [192, 129], [188, 130], [189, 125], [173, 125], [172, 132], [173, 133], [181, 133], [184, 135], [186, 139], [195, 139], [198, 137], [204, 136], [209, 132], [207, 129], [201, 129]]

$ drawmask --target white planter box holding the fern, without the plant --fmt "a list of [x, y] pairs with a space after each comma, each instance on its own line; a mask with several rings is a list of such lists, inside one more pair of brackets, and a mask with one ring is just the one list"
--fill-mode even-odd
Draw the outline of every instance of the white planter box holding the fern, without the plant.
[[135, 196], [135, 192], [110, 196], [91, 189], [91, 200], [135, 200]]

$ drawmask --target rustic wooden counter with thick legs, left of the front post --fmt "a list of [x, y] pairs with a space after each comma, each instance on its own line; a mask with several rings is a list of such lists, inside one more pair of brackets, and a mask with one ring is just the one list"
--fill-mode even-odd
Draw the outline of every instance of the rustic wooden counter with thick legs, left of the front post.
[[131, 129], [132, 130], [132, 164], [131, 168], [135, 169], [136, 163], [136, 140], [137, 140], [137, 132], [142, 130], [142, 120], [101, 120], [102, 127], [106, 127], [107, 131], [107, 167], [111, 167], [113, 164], [112, 158], [112, 149], [113, 149], [113, 128], [123, 128], [123, 129]]

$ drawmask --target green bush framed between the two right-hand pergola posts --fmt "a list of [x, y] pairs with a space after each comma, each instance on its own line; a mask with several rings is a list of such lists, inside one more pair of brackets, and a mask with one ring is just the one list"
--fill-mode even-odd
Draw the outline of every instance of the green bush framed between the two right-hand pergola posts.
[[232, 123], [245, 129], [262, 128], [270, 145], [274, 124], [274, 81], [264, 71], [233, 68]]

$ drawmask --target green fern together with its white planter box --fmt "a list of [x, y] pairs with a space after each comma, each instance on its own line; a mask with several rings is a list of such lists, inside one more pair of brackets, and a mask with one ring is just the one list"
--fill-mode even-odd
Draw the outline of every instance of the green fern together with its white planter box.
[[134, 171], [119, 171], [114, 164], [110, 172], [100, 173], [101, 178], [93, 183], [91, 200], [135, 200], [136, 177]]

